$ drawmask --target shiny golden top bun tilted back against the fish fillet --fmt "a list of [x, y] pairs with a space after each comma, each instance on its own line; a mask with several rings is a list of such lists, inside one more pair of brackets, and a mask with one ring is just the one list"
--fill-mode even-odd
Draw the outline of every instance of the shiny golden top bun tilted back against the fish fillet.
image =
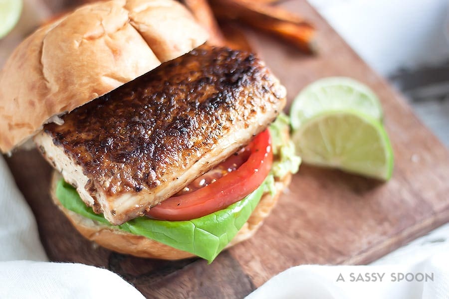
[[203, 44], [205, 30], [174, 0], [82, 6], [26, 38], [0, 73], [0, 149], [44, 123]]

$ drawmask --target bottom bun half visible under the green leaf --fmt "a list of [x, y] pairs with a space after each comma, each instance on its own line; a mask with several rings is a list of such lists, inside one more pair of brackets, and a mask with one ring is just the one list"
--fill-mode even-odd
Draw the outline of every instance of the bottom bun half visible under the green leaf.
[[[50, 195], [54, 203], [70, 220], [72, 225], [85, 238], [96, 242], [98, 245], [122, 254], [129, 254], [142, 258], [154, 258], [164, 260], [179, 260], [194, 257], [195, 255], [171, 246], [156, 242], [143, 236], [134, 235], [113, 227], [106, 226], [94, 220], [83, 217], [62, 206], [56, 198], [56, 184], [61, 178], [58, 172], [54, 172], [51, 180]], [[226, 246], [229, 248], [241, 241], [250, 238], [262, 225], [263, 220], [269, 215], [276, 204], [282, 191], [288, 186], [291, 174], [288, 173], [282, 179], [275, 181], [275, 193], [271, 195], [265, 192], [258, 205], [252, 212], [248, 221], [238, 231], [237, 235]]]

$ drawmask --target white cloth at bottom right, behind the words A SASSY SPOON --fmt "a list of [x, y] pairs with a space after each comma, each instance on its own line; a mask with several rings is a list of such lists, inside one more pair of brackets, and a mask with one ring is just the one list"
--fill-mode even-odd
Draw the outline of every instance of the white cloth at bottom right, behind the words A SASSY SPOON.
[[265, 298], [448, 299], [449, 254], [411, 265], [297, 266], [271, 278], [247, 297]]

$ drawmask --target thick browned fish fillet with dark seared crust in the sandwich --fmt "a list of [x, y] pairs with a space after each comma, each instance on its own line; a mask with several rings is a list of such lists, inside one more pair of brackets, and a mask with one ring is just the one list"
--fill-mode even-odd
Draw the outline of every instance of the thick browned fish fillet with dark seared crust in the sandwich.
[[34, 141], [118, 225], [246, 145], [284, 105], [284, 87], [254, 55], [201, 47], [45, 125]]

